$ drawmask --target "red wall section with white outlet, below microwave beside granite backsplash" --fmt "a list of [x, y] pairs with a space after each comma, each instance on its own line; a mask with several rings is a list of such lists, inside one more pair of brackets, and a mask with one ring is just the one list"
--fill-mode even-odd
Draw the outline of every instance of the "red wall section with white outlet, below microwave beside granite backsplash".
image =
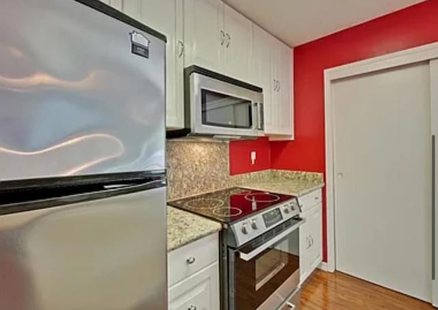
[[[230, 142], [230, 174], [266, 170], [270, 168], [270, 144], [268, 138]], [[255, 164], [251, 164], [250, 153], [256, 151]]]

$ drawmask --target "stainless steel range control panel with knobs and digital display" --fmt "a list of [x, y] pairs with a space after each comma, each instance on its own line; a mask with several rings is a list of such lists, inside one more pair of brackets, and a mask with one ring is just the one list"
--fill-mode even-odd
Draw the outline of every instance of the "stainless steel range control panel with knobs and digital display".
[[297, 198], [292, 198], [289, 201], [274, 205], [268, 210], [231, 224], [230, 229], [235, 237], [235, 246], [246, 244], [246, 242], [266, 233], [266, 231], [269, 231], [277, 224], [285, 222], [298, 214], [300, 214], [298, 200]]

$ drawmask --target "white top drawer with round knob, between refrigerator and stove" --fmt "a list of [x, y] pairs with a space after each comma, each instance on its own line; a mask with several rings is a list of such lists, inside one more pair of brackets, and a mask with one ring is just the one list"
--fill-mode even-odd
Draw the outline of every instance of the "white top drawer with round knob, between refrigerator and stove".
[[169, 286], [219, 259], [218, 234], [209, 235], [169, 253]]

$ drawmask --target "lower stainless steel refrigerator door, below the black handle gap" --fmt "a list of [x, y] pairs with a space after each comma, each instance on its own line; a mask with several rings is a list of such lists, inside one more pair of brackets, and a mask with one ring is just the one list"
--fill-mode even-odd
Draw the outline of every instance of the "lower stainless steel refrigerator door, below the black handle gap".
[[166, 188], [0, 216], [0, 309], [167, 309]]

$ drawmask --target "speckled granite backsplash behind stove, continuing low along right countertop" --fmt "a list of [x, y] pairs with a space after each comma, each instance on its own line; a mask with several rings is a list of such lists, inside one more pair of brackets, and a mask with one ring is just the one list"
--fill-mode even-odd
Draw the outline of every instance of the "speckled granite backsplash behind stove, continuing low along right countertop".
[[324, 181], [322, 173], [262, 170], [230, 175], [228, 142], [167, 142], [168, 201], [250, 182]]

